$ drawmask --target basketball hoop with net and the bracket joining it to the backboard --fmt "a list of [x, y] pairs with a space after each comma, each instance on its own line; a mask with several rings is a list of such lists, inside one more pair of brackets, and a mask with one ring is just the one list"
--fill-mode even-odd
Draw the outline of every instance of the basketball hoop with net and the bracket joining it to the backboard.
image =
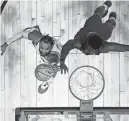
[[102, 94], [104, 87], [104, 77], [95, 67], [81, 66], [72, 72], [69, 89], [72, 95], [80, 100], [79, 121], [94, 121], [93, 100]]

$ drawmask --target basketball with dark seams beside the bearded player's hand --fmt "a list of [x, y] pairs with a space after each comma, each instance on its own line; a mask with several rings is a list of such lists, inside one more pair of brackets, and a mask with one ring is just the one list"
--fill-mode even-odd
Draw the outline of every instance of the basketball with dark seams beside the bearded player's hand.
[[35, 77], [40, 81], [48, 81], [54, 74], [55, 71], [48, 64], [40, 64], [35, 69]]

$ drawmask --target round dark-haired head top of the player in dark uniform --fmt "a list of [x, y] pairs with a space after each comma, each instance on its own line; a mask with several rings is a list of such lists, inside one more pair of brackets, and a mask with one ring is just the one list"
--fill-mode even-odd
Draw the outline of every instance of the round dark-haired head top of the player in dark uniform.
[[99, 49], [103, 44], [103, 39], [98, 35], [92, 35], [88, 37], [88, 45], [93, 49]]

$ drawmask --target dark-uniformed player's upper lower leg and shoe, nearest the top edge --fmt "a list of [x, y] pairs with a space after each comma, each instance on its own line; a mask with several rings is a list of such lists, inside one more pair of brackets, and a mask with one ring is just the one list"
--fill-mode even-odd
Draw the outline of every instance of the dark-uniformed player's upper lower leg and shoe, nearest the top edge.
[[106, 1], [103, 5], [97, 7], [94, 11], [94, 14], [98, 14], [101, 18], [105, 17], [108, 14], [108, 9], [112, 6], [111, 1]]

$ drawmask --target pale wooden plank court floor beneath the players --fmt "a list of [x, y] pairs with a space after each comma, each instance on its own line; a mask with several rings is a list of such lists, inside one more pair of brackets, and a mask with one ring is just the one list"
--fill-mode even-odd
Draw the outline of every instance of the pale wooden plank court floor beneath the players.
[[[42, 33], [49, 34], [65, 44], [83, 27], [95, 8], [103, 1], [13, 1], [8, 2], [1, 15], [0, 45], [25, 27], [38, 24]], [[117, 25], [108, 41], [129, 44], [129, 1], [113, 1], [109, 10], [117, 12]], [[105, 22], [108, 16], [103, 19]], [[41, 63], [31, 41], [21, 39], [11, 44], [0, 57], [0, 119], [13, 121], [16, 107], [71, 107], [79, 101], [68, 89], [68, 79], [74, 69], [82, 65], [98, 68], [106, 85], [95, 106], [129, 106], [129, 52], [86, 56], [74, 49], [66, 59], [69, 73], [58, 72], [49, 90], [41, 95], [34, 71]], [[114, 121], [129, 117], [114, 117]]]

